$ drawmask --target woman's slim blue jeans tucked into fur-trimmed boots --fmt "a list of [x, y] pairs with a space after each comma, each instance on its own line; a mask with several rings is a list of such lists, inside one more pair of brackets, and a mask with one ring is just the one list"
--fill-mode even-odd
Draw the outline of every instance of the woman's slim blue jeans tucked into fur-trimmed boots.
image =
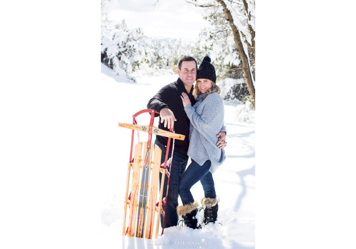
[[206, 198], [216, 198], [213, 174], [209, 171], [211, 166], [210, 160], [205, 161], [202, 166], [194, 160], [191, 161], [191, 164], [180, 177], [178, 193], [183, 205], [194, 202], [190, 188], [199, 180], [203, 186], [204, 196]]

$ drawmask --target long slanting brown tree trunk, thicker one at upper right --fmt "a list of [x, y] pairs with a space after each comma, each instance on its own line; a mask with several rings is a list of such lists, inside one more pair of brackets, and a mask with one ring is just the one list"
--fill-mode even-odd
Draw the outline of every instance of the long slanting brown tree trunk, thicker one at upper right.
[[250, 95], [255, 99], [255, 86], [253, 85], [253, 82], [252, 82], [250, 65], [249, 65], [247, 55], [245, 53], [245, 50], [244, 50], [242, 42], [241, 42], [240, 32], [237, 29], [236, 25], [233, 23], [233, 18], [232, 18], [231, 12], [230, 12], [230, 10], [227, 9], [225, 2], [223, 0], [216, 0], [216, 1], [223, 6], [223, 12], [225, 14], [227, 21], [230, 24], [232, 34], [234, 37], [234, 41], [235, 41], [237, 50], [238, 50], [240, 58], [241, 58], [242, 69], [244, 71], [245, 81], [247, 83], [248, 90], [250, 92]]

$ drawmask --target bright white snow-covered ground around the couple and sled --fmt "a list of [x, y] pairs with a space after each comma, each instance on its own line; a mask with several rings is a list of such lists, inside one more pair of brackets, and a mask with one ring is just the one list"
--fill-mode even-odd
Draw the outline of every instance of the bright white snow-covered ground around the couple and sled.
[[[137, 83], [120, 82], [113, 76], [113, 72], [102, 65], [101, 87], [96, 96], [101, 105], [100, 122], [106, 127], [102, 135], [107, 138], [102, 160], [105, 183], [101, 195], [101, 248], [171, 249], [184, 247], [182, 245], [186, 245], [185, 248], [255, 248], [255, 124], [239, 122], [237, 115], [242, 112], [241, 108], [227, 102], [224, 106], [227, 157], [214, 173], [217, 195], [221, 198], [218, 213], [221, 225], [209, 224], [201, 230], [171, 227], [153, 240], [122, 236], [131, 130], [118, 127], [117, 123], [132, 123], [132, 115], [146, 109], [148, 100], [178, 76], [140, 76], [136, 77]], [[253, 112], [250, 115], [253, 116]], [[137, 121], [147, 123], [147, 120]], [[192, 192], [196, 200], [203, 196], [199, 183], [193, 186]]]

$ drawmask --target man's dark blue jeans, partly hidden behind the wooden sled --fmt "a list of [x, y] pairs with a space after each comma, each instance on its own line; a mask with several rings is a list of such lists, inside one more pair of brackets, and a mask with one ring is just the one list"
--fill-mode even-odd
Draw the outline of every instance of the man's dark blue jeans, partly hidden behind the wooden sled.
[[[167, 148], [163, 146], [160, 142], [155, 140], [155, 144], [160, 147], [162, 150], [161, 156], [161, 164], [164, 163], [166, 158]], [[172, 148], [170, 148], [168, 159], [171, 157]], [[180, 181], [180, 175], [184, 172], [185, 167], [188, 164], [188, 155], [186, 153], [173, 152], [173, 160], [171, 164], [171, 174], [170, 174], [170, 182], [168, 188], [168, 196], [166, 199], [166, 212], [165, 212], [165, 224], [164, 227], [177, 226], [178, 223], [178, 186]], [[160, 172], [160, 187], [161, 187], [161, 177], [162, 173]], [[165, 182], [163, 187], [163, 197], [166, 196], [167, 193], [167, 175], [165, 176]], [[165, 207], [162, 207], [163, 210]], [[163, 215], [161, 215], [161, 226], [163, 227]]]

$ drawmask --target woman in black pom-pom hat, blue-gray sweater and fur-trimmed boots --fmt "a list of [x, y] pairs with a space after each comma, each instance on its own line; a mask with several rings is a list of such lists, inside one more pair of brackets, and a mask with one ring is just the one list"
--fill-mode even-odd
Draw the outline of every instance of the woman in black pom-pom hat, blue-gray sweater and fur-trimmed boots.
[[[185, 224], [190, 228], [200, 228], [197, 225], [197, 207], [190, 188], [200, 180], [204, 189], [202, 206], [204, 207], [204, 223], [217, 220], [218, 203], [212, 173], [225, 160], [225, 152], [216, 146], [217, 134], [223, 127], [224, 108], [223, 99], [219, 95], [220, 89], [215, 84], [215, 68], [211, 59], [205, 56], [197, 70], [197, 80], [193, 95], [196, 103], [191, 102], [186, 93], [181, 94], [184, 111], [190, 120], [188, 156], [191, 164], [181, 175], [178, 193], [182, 206], [177, 207], [178, 215], [182, 216]], [[224, 146], [226, 143], [224, 143]]]

